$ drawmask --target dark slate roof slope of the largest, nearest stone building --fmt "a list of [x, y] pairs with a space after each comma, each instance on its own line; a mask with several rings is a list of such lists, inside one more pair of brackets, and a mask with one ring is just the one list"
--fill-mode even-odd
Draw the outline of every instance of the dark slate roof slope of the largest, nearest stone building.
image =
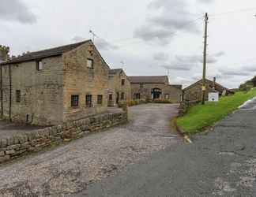
[[13, 58], [9, 61], [6, 61], [2, 63], [1, 65], [8, 65], [8, 64], [16, 64], [21, 63], [24, 61], [34, 61], [34, 60], [40, 60], [42, 58], [50, 58], [58, 55], [62, 55], [63, 53], [66, 53], [70, 50], [73, 50], [77, 48], [78, 46], [81, 46], [82, 44], [88, 43], [90, 40], [86, 40], [81, 43], [73, 43], [65, 46], [58, 46], [55, 48], [47, 49], [47, 50], [40, 50], [36, 52], [31, 52], [28, 54], [24, 54], [21, 57]]

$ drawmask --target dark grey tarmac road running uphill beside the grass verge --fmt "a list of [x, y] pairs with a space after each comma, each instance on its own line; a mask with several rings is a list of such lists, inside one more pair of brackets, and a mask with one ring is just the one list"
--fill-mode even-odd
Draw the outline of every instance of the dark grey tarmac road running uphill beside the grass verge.
[[256, 196], [256, 110], [251, 103], [193, 141], [158, 151], [72, 196]]

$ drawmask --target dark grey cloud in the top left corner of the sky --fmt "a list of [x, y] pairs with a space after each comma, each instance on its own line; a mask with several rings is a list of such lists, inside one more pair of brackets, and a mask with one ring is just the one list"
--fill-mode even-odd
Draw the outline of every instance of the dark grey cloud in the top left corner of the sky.
[[36, 23], [36, 15], [21, 0], [1, 0], [0, 20], [33, 24]]

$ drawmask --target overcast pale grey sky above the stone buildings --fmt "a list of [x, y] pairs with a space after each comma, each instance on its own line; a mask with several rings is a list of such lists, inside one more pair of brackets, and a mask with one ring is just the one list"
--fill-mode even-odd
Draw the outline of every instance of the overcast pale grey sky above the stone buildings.
[[208, 78], [238, 87], [256, 75], [255, 0], [0, 1], [0, 44], [13, 55], [92, 39], [92, 29], [111, 68], [128, 76], [169, 69], [171, 84], [187, 86], [201, 78], [208, 12]]

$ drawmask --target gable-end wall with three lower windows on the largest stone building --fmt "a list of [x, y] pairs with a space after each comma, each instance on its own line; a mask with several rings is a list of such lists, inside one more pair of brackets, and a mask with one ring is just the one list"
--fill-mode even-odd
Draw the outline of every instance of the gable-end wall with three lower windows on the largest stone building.
[[[74, 121], [107, 111], [108, 66], [100, 57], [92, 42], [85, 43], [63, 54], [63, 113], [64, 121]], [[87, 59], [93, 60], [93, 69]], [[71, 106], [71, 95], [79, 96], [79, 105]], [[85, 105], [85, 96], [92, 95], [92, 106]], [[97, 103], [97, 96], [103, 102]]]

